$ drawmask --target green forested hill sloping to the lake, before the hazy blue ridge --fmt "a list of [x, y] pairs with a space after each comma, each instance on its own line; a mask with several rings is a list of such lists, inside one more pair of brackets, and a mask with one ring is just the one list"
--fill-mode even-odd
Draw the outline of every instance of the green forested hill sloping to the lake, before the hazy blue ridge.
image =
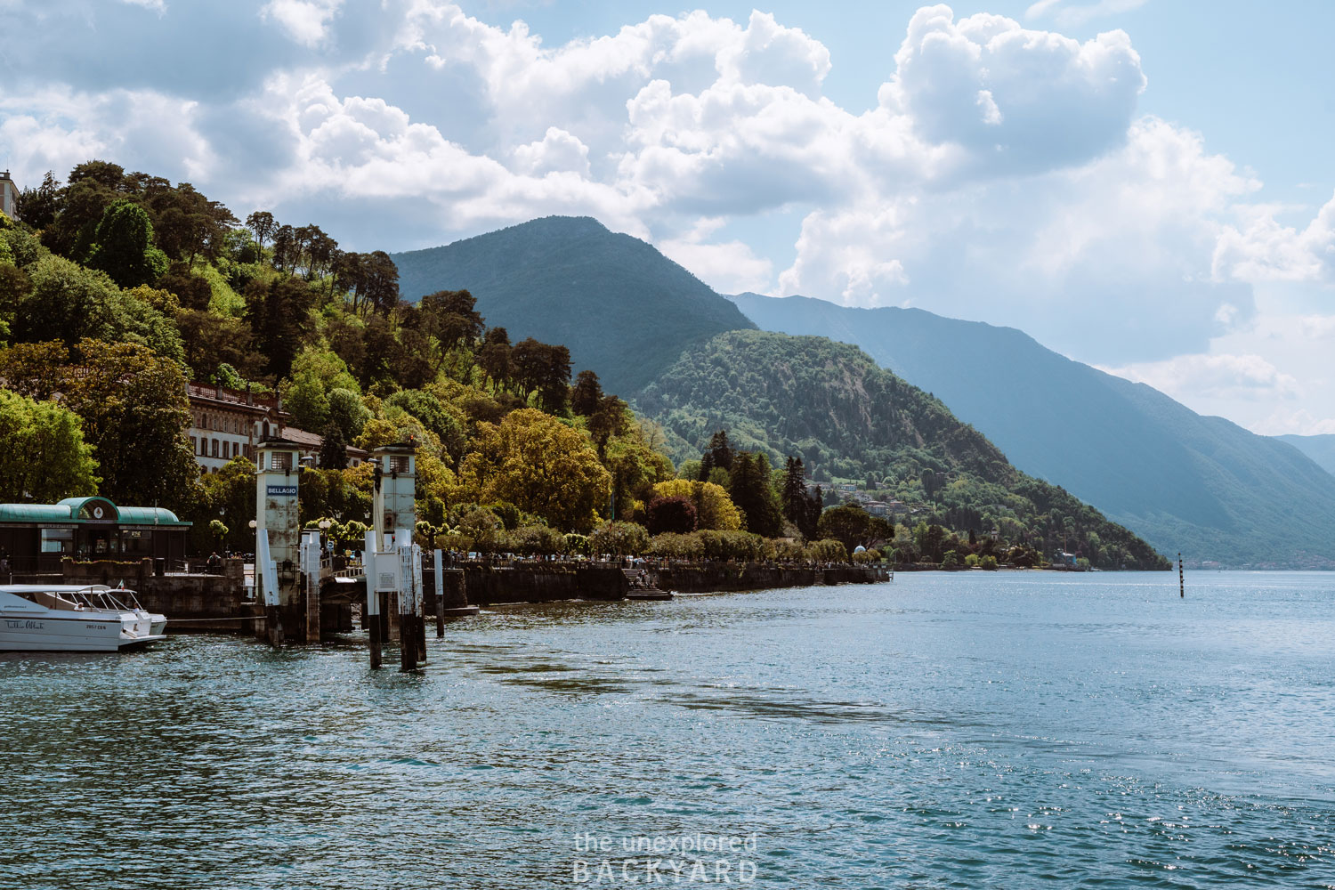
[[[1152, 548], [1061, 488], [1011, 466], [939, 399], [880, 368], [861, 350], [825, 338], [733, 331], [692, 347], [637, 407], [680, 436], [678, 459], [698, 456], [712, 432], [761, 450], [781, 466], [801, 456], [817, 476], [874, 476], [917, 511], [956, 528], [1100, 550], [1104, 564], [1161, 567]], [[910, 518], [914, 516], [914, 518]], [[1075, 550], [1072, 550], [1075, 551]], [[1096, 560], [1097, 564], [1097, 560]]]

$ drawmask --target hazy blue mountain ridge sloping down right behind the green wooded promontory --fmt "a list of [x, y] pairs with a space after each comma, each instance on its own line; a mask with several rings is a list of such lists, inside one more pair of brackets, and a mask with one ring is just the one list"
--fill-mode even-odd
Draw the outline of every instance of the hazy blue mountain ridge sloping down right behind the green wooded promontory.
[[1232, 566], [1335, 567], [1335, 476], [1286, 442], [1200, 416], [1013, 328], [800, 296], [730, 299], [765, 330], [862, 347], [1016, 467], [1160, 550]]

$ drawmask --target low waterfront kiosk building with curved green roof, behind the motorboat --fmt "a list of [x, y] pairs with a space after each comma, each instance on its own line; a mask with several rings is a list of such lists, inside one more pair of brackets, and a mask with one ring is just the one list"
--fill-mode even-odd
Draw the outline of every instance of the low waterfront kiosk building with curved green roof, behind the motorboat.
[[15, 571], [60, 571], [76, 559], [186, 559], [188, 522], [162, 507], [117, 507], [105, 498], [0, 504], [0, 552]]

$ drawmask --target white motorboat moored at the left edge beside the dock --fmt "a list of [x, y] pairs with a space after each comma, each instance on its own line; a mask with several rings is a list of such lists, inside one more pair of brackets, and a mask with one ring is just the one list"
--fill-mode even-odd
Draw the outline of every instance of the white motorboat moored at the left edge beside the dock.
[[104, 584], [0, 584], [0, 651], [115, 652], [163, 639], [167, 618]]

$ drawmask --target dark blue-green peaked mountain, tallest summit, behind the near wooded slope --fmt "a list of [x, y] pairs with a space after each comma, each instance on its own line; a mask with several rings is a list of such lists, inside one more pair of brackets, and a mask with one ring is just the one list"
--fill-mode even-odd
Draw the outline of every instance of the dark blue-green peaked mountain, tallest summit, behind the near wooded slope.
[[570, 348], [611, 392], [631, 394], [722, 331], [754, 327], [649, 244], [598, 220], [549, 216], [446, 247], [394, 254], [409, 300], [469, 290], [490, 324]]

